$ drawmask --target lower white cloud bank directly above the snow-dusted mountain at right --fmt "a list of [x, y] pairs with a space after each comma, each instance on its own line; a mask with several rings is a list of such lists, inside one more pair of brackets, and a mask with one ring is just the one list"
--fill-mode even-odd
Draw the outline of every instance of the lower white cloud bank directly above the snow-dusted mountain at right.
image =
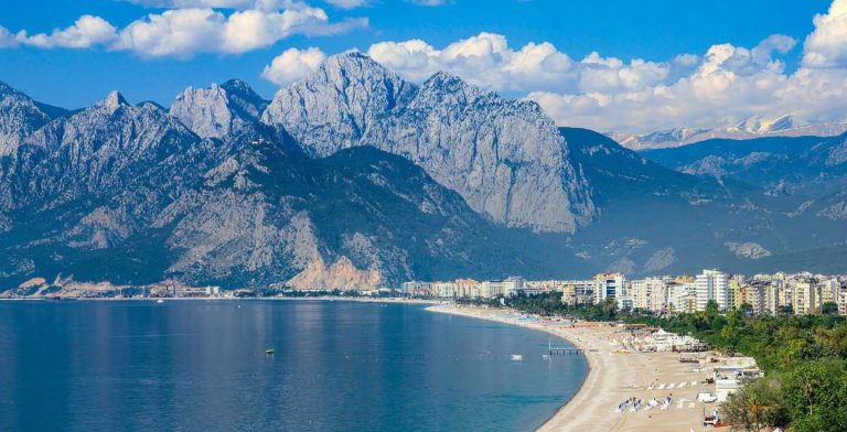
[[787, 74], [781, 62], [757, 48], [721, 44], [710, 47], [696, 71], [679, 79], [633, 91], [535, 91], [528, 97], [561, 125], [601, 131], [708, 128], [751, 115], [841, 121], [847, 115], [847, 71], [801, 67]]

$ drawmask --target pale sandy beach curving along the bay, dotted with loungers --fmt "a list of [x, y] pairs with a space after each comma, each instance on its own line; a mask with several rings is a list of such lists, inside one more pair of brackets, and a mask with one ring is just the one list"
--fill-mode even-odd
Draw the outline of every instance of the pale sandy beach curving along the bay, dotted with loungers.
[[[622, 330], [609, 324], [578, 323], [573, 326], [549, 326], [507, 317], [504, 309], [479, 309], [454, 305], [429, 307], [433, 312], [451, 313], [527, 328], [560, 336], [586, 349], [589, 374], [579, 392], [549, 419], [539, 431], [704, 431], [704, 409], [710, 412], [716, 403], [695, 402], [698, 390], [715, 390], [706, 385], [706, 369], [695, 371], [696, 365], [680, 363], [676, 353], [624, 353], [611, 341], [622, 337]], [[644, 402], [655, 398], [672, 403], [618, 412], [628, 398]]]

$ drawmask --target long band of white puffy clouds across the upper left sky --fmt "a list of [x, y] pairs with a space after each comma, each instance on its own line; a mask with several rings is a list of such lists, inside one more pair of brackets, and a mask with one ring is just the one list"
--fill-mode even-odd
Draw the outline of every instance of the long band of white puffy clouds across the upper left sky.
[[[118, 30], [99, 17], [83, 15], [74, 25], [52, 33], [15, 35], [0, 30], [0, 47], [19, 44], [52, 48], [131, 51], [142, 56], [187, 58], [197, 53], [240, 54], [274, 45], [292, 34], [331, 35], [366, 28], [367, 19], [330, 22], [320, 8], [283, 0], [138, 0], [147, 6], [189, 6], [204, 8], [169, 9], [129, 23]], [[290, 9], [276, 9], [282, 3]], [[226, 14], [213, 7], [244, 7]]]

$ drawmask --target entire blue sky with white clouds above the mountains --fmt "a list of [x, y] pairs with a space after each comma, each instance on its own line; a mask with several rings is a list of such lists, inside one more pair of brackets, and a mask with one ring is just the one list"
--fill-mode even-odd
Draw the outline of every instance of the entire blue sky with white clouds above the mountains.
[[270, 98], [349, 50], [600, 131], [847, 120], [847, 0], [0, 2], [0, 80], [66, 108], [229, 78]]

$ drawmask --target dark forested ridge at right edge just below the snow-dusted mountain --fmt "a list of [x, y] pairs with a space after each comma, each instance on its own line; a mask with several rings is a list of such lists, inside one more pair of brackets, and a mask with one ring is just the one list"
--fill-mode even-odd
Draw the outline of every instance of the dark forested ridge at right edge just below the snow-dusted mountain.
[[683, 173], [733, 179], [770, 194], [823, 196], [847, 185], [847, 133], [716, 139], [642, 154]]

